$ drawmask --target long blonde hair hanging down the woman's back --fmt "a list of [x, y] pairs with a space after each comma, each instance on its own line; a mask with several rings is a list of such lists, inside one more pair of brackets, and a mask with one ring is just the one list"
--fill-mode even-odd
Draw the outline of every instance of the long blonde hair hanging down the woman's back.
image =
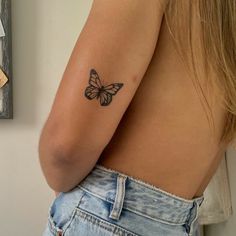
[[[227, 111], [221, 141], [233, 142], [236, 136], [236, 1], [170, 0], [165, 20], [177, 51], [193, 75], [195, 88], [200, 89], [204, 98], [207, 109], [202, 104], [209, 124], [215, 129], [207, 99], [208, 94], [215, 91], [214, 99]], [[203, 77], [204, 84], [201, 83]]]

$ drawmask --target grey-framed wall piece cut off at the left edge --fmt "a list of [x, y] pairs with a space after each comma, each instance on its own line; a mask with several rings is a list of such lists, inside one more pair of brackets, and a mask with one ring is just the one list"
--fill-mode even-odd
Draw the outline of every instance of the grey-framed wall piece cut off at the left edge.
[[0, 119], [12, 118], [11, 0], [0, 0]]

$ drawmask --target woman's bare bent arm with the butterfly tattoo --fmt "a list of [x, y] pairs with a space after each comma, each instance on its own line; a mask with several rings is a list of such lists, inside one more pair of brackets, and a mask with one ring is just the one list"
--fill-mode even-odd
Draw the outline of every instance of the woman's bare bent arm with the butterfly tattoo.
[[161, 3], [94, 0], [40, 136], [40, 164], [55, 191], [75, 187], [113, 136], [154, 53]]

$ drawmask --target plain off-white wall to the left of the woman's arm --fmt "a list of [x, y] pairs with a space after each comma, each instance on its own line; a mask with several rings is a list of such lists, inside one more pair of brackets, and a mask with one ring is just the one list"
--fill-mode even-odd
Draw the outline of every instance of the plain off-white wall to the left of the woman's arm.
[[37, 145], [90, 0], [12, 0], [14, 119], [0, 120], [0, 235], [42, 235], [54, 193]]

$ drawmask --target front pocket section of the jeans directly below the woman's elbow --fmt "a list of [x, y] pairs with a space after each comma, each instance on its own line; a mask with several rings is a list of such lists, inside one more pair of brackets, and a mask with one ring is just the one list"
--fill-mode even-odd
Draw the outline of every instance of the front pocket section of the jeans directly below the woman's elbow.
[[74, 188], [69, 192], [61, 192], [54, 198], [48, 211], [48, 232], [58, 236], [65, 234], [84, 194], [83, 190]]

